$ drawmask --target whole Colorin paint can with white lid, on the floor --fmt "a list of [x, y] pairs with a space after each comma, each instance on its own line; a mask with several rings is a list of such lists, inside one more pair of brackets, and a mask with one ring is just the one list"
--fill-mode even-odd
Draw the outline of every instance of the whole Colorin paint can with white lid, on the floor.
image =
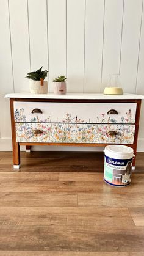
[[104, 149], [104, 181], [112, 186], [131, 183], [134, 150], [124, 145], [109, 145]]

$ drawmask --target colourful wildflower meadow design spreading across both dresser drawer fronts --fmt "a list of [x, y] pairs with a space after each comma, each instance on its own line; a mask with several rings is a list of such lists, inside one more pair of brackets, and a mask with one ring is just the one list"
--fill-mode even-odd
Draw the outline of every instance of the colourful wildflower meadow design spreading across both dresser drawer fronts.
[[[82, 105], [84, 106], [84, 105]], [[70, 110], [70, 109], [69, 109]], [[31, 111], [30, 111], [31, 112]], [[91, 115], [90, 112], [79, 112], [74, 109], [76, 115], [63, 109], [52, 115], [51, 108], [44, 114], [27, 115], [24, 108], [15, 109], [16, 141], [17, 142], [55, 142], [55, 143], [101, 143], [101, 144], [132, 144], [134, 141], [135, 116], [132, 116], [131, 108], [123, 112], [123, 115], [109, 115], [107, 112]], [[79, 115], [84, 118], [79, 117]], [[30, 118], [31, 116], [31, 118]], [[63, 119], [62, 119], [63, 116]], [[56, 122], [52, 122], [56, 120]], [[35, 130], [40, 133], [35, 134]], [[110, 135], [109, 131], [115, 131]]]

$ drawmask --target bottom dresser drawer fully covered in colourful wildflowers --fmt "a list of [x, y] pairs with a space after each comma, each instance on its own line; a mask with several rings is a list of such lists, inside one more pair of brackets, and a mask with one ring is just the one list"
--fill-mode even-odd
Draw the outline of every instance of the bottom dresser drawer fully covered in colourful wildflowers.
[[135, 125], [16, 123], [17, 142], [133, 144]]

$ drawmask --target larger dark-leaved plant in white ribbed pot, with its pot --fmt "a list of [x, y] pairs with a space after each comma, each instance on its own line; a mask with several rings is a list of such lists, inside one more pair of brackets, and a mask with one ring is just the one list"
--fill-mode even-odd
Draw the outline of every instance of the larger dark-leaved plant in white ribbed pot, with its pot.
[[34, 94], [46, 94], [48, 93], [48, 82], [44, 81], [48, 71], [41, 71], [43, 67], [34, 72], [27, 73], [26, 78], [30, 79], [29, 89]]

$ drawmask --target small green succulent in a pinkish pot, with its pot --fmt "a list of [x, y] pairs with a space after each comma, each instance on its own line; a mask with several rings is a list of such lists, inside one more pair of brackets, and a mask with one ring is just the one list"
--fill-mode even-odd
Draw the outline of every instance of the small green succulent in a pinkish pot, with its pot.
[[58, 76], [53, 80], [54, 82], [54, 94], [66, 94], [66, 80], [65, 76]]

